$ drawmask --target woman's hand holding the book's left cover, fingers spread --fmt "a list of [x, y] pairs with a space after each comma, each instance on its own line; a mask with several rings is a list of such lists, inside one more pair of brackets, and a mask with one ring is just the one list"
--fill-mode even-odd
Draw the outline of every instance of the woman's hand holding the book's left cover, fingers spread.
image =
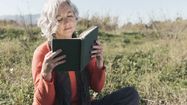
[[41, 74], [42, 77], [45, 80], [50, 81], [52, 79], [52, 71], [53, 69], [59, 65], [59, 64], [64, 64], [66, 61], [64, 60], [64, 58], [66, 57], [65, 55], [56, 57], [58, 54], [60, 54], [62, 52], [61, 49], [55, 51], [55, 52], [48, 52], [45, 55], [43, 64], [42, 64], [42, 70], [41, 70]]

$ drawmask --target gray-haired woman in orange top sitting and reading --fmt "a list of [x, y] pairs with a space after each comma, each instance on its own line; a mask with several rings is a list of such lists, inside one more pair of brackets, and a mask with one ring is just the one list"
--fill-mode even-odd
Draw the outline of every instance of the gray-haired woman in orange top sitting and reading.
[[48, 0], [38, 26], [47, 41], [34, 52], [32, 76], [34, 80], [33, 105], [138, 105], [139, 96], [131, 87], [120, 89], [100, 100], [91, 100], [89, 87], [100, 92], [105, 81], [103, 50], [98, 41], [93, 45], [92, 58], [85, 70], [57, 72], [53, 69], [66, 62], [61, 50], [51, 51], [52, 38], [75, 37], [78, 10], [69, 0]]

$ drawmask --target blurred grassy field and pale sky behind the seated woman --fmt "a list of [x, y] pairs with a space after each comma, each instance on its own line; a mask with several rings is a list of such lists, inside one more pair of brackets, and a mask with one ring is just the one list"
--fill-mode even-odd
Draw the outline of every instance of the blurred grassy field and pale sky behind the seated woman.
[[[31, 61], [46, 39], [37, 19], [45, 0], [0, 0], [0, 105], [30, 105]], [[81, 33], [98, 25], [107, 80], [97, 99], [133, 86], [141, 105], [187, 105], [186, 0], [72, 0]]]

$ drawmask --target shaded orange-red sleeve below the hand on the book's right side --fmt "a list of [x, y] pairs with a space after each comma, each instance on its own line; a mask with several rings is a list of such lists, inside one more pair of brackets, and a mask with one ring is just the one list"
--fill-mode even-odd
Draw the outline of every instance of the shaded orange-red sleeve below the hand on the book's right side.
[[100, 92], [105, 83], [105, 66], [97, 68], [96, 58], [92, 58], [87, 65], [90, 75], [90, 87], [96, 92]]

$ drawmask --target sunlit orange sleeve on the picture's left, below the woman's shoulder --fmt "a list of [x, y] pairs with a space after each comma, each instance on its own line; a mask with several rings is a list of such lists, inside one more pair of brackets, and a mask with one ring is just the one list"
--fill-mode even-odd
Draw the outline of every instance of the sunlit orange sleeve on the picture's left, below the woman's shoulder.
[[34, 81], [33, 105], [53, 105], [55, 100], [54, 75], [51, 81], [41, 76], [44, 54], [35, 50], [32, 60], [32, 77]]

